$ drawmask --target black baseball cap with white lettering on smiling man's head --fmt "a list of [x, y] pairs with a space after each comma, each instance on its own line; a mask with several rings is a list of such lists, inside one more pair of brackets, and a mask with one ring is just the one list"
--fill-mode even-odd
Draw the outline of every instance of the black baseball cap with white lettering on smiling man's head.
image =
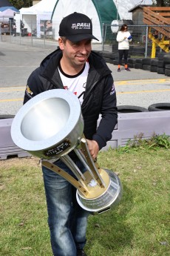
[[95, 39], [92, 35], [92, 21], [83, 13], [72, 13], [62, 19], [59, 36], [65, 36], [72, 42], [84, 39]]

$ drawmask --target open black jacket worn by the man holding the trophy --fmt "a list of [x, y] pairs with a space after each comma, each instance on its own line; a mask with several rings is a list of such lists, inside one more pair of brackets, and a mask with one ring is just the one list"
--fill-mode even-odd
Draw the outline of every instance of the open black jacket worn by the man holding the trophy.
[[[64, 88], [58, 73], [61, 56], [61, 50], [55, 50], [31, 73], [27, 81], [24, 103], [43, 91]], [[81, 111], [84, 117], [84, 135], [86, 139], [97, 141], [100, 149], [112, 138], [112, 131], [118, 119], [111, 72], [101, 56], [95, 52], [90, 53], [89, 75]], [[97, 128], [100, 114], [101, 122]]]

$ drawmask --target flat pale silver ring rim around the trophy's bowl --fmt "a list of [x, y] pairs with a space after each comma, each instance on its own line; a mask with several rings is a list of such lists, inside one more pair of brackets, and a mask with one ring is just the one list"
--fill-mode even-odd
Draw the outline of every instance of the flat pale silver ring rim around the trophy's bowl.
[[[69, 118], [64, 128], [61, 129], [57, 134], [52, 137], [47, 138], [46, 140], [28, 140], [21, 132], [21, 123], [29, 111], [35, 105], [47, 100], [47, 99], [64, 99], [69, 105]], [[44, 91], [34, 96], [28, 102], [26, 102], [22, 108], [19, 109], [18, 113], [13, 119], [11, 125], [11, 137], [13, 142], [18, 145], [19, 148], [22, 148], [26, 151], [41, 151], [46, 148], [52, 147], [54, 142], [59, 143], [64, 140], [65, 137], [75, 128], [78, 120], [81, 116], [81, 104], [78, 100], [78, 97], [70, 91], [64, 89], [53, 89], [49, 91]]]

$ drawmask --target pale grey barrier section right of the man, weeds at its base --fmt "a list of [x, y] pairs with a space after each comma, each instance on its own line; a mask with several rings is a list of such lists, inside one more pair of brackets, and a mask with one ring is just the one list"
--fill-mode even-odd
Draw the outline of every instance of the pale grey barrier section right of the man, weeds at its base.
[[170, 135], [170, 111], [118, 114], [118, 125], [112, 132], [112, 139], [102, 150], [123, 147], [140, 134], [143, 139], [154, 134]]

